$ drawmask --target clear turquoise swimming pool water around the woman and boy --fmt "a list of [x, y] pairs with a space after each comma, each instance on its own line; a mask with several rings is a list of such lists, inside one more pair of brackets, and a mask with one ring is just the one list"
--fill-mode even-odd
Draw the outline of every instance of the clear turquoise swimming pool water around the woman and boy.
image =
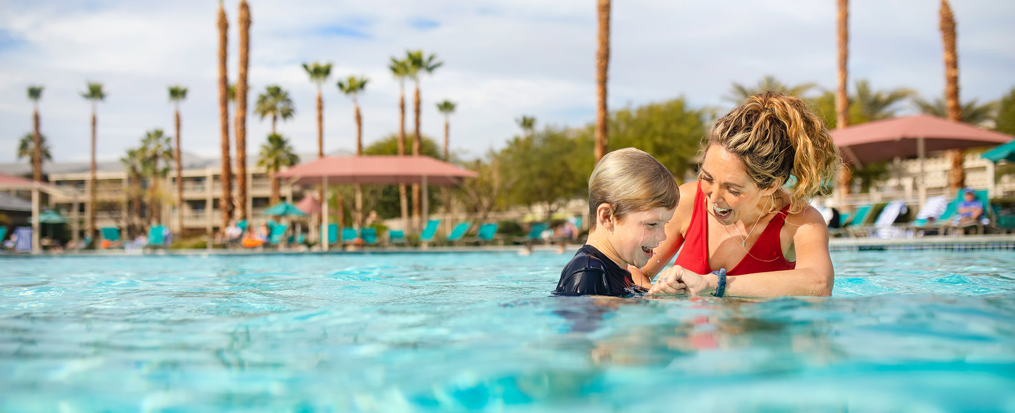
[[1015, 254], [830, 298], [552, 297], [567, 255], [0, 259], [0, 411], [1015, 411]]

